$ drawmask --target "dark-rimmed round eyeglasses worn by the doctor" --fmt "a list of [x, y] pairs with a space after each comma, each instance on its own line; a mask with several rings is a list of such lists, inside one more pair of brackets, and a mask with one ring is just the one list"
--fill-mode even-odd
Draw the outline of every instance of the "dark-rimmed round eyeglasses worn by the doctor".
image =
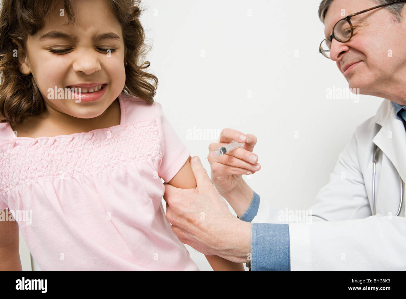
[[381, 4], [375, 7], [371, 7], [369, 9], [365, 9], [363, 11], [359, 11], [358, 13], [353, 13], [352, 15], [348, 15], [345, 18], [339, 20], [333, 27], [333, 34], [330, 35], [330, 37], [323, 39], [323, 41], [320, 43], [320, 48], [319, 52], [324, 55], [324, 57], [330, 58], [330, 49], [331, 49], [331, 41], [333, 40], [333, 37], [336, 41], [339, 41], [341, 43], [346, 43], [349, 41], [354, 34], [354, 28], [352, 27], [351, 24], [351, 17], [354, 17], [356, 15], [359, 15], [361, 13], [366, 13], [367, 11], [371, 11], [373, 9], [377, 9], [380, 7], [384, 7], [390, 4], [394, 3], [399, 3], [399, 2], [406, 2], [405, 0], [398, 0], [398, 1], [393, 1], [390, 3], [386, 4]]

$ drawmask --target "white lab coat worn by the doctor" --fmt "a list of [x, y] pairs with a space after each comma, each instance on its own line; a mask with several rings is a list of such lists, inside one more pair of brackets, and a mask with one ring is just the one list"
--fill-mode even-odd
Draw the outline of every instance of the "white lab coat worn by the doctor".
[[[372, 215], [374, 143], [381, 149], [376, 165], [376, 216]], [[400, 216], [400, 177], [406, 181], [406, 132], [385, 99], [375, 116], [356, 127], [340, 153], [329, 183], [309, 210], [311, 223], [289, 223], [291, 271], [406, 270], [405, 203]], [[406, 190], [405, 190], [406, 191]], [[252, 222], [283, 223], [261, 199]]]

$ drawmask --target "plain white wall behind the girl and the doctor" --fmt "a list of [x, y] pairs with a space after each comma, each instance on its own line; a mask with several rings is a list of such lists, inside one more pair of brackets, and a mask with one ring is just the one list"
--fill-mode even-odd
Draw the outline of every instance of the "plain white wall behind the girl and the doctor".
[[[326, 89], [348, 83], [318, 52], [324, 39], [320, 1], [141, 4], [152, 44], [149, 72], [159, 79], [155, 100], [182, 142], [203, 160], [215, 139], [190, 139], [188, 129], [256, 135], [261, 170], [246, 181], [261, 201], [281, 210], [311, 206], [355, 127], [382, 102], [362, 95], [358, 103], [326, 98]], [[210, 173], [207, 160], [203, 164]], [[204, 255], [187, 248], [201, 270], [211, 270]]]

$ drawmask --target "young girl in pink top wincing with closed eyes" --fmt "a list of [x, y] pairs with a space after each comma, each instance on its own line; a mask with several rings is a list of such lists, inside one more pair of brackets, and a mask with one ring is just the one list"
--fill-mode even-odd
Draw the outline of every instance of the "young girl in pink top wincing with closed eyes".
[[161, 178], [196, 181], [140, 64], [138, 2], [24, 3], [0, 15], [0, 210], [17, 221], [0, 221], [0, 269], [21, 270], [18, 223], [43, 271], [199, 270], [161, 203]]

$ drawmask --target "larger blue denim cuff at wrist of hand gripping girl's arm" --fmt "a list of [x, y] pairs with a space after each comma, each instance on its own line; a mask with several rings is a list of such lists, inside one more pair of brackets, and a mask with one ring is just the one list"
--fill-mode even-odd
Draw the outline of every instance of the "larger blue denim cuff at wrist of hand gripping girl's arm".
[[289, 224], [252, 224], [251, 271], [290, 271]]

